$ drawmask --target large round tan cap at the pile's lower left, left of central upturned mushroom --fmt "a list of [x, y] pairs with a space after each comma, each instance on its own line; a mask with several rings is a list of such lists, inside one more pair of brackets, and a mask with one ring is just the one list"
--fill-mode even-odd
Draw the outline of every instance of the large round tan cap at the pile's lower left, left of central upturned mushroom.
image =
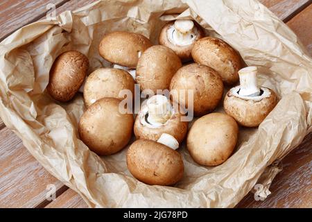
[[92, 104], [79, 121], [80, 139], [98, 155], [111, 155], [125, 147], [132, 135], [133, 115], [121, 114], [116, 98]]

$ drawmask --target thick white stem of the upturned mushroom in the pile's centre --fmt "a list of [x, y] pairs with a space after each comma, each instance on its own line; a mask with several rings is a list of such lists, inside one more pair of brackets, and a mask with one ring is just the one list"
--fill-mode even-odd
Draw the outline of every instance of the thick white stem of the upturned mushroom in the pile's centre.
[[166, 96], [155, 95], [147, 101], [148, 122], [154, 126], [161, 126], [171, 117], [171, 106]]

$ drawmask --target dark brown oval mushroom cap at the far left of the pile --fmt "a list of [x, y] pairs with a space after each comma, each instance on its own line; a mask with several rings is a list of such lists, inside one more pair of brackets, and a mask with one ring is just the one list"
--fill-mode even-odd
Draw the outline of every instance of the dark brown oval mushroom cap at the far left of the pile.
[[57, 101], [70, 101], [83, 85], [88, 69], [89, 60], [83, 53], [78, 51], [62, 53], [51, 67], [47, 91]]

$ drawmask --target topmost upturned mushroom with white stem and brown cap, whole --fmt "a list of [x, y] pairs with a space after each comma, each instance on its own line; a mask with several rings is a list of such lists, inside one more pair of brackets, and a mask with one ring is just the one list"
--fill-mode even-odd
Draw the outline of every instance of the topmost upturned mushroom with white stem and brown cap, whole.
[[168, 22], [159, 35], [159, 44], [177, 53], [182, 61], [191, 59], [194, 43], [205, 36], [202, 28], [189, 19]]

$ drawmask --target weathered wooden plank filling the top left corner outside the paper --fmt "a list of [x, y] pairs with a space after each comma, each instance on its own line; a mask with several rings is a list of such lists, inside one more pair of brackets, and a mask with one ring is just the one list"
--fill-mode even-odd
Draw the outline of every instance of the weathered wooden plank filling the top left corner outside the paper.
[[0, 42], [18, 28], [44, 17], [46, 5], [60, 6], [68, 0], [2, 0], [0, 1]]

